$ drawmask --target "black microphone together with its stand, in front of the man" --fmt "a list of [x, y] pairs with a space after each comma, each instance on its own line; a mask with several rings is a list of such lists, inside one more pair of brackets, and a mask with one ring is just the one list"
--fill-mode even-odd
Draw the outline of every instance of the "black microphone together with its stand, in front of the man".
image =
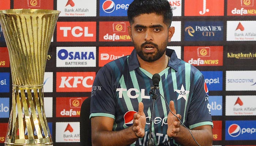
[[[152, 99], [153, 99], [153, 104], [152, 104], [152, 114], [151, 114], [151, 118], [150, 118], [150, 129], [149, 129], [149, 138], [148, 138], [148, 142], [147, 145], [148, 146], [153, 146], [154, 145], [154, 140], [152, 138], [152, 121], [153, 121], [153, 113], [154, 113], [154, 108], [155, 108], [155, 100], [157, 99], [157, 95], [155, 94], [155, 90], [159, 88], [159, 81], [161, 80], [161, 77], [158, 73], [155, 73], [152, 77], [152, 81], [153, 81], [153, 85], [154, 87], [151, 87], [149, 94], [152, 95]], [[152, 92], [152, 89], [154, 89], [154, 92]]]

